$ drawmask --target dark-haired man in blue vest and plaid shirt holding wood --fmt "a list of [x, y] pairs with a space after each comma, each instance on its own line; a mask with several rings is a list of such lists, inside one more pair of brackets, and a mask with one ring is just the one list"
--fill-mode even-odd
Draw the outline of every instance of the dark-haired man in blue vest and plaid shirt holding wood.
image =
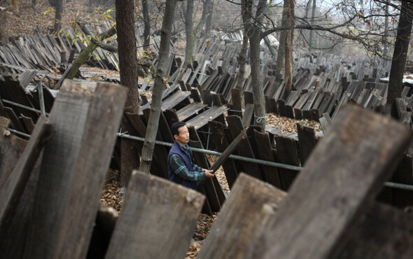
[[213, 178], [212, 170], [202, 169], [195, 164], [193, 152], [188, 146], [189, 132], [185, 123], [172, 124], [175, 144], [168, 155], [169, 180], [197, 190], [197, 182]]

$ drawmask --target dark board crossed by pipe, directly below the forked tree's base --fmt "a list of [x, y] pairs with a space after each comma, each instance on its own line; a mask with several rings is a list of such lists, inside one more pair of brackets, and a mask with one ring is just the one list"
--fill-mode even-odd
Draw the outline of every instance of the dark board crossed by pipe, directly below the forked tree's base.
[[[260, 160], [265, 160], [269, 162], [275, 162], [274, 155], [272, 155], [272, 146], [269, 141], [268, 132], [261, 133], [257, 130], [254, 130], [255, 141], [258, 143], [258, 155]], [[268, 165], [262, 165], [262, 172], [264, 174], [264, 181], [271, 183], [276, 188], [281, 189], [281, 181], [279, 176], [279, 169], [276, 167], [270, 167]]]

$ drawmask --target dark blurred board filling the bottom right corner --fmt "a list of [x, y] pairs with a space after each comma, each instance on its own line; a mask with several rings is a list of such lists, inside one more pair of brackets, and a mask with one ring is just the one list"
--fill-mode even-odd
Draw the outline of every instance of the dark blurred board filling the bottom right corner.
[[412, 222], [412, 214], [375, 202], [333, 258], [412, 258]]

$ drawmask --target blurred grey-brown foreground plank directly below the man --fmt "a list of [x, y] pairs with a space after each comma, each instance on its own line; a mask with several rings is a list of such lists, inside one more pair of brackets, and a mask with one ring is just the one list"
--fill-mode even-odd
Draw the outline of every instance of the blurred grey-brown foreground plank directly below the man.
[[194, 190], [134, 171], [106, 258], [184, 258], [203, 203]]

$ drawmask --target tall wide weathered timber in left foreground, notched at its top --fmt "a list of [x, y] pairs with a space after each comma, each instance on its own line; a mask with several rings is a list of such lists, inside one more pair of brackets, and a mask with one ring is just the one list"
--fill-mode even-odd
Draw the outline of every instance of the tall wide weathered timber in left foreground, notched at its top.
[[85, 258], [127, 97], [127, 88], [96, 90], [64, 81], [43, 153], [25, 258]]

